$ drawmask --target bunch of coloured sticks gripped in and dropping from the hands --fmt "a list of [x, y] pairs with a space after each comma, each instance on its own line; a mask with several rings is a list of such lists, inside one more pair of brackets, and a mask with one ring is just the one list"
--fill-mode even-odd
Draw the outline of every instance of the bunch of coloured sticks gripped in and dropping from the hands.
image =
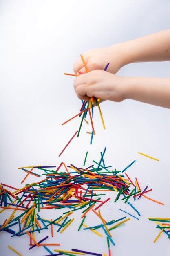
[[[86, 72], [89, 72], [88, 70], [88, 67], [86, 65], [86, 62], [84, 60], [84, 57], [82, 56], [82, 54], [80, 55], [81, 58], [82, 58], [82, 62], [84, 64], [84, 67], [86, 69]], [[108, 65], [109, 63], [107, 63], [106, 67], [104, 68], [104, 71], [107, 70], [108, 68]], [[65, 75], [70, 75], [70, 76], [78, 76], [78, 74], [70, 74], [70, 73], [64, 73]], [[79, 72], [79, 75], [82, 74], [81, 72]], [[80, 108], [80, 112], [71, 117], [70, 119], [68, 119], [67, 121], [65, 121], [64, 123], [62, 123], [62, 125], [68, 123], [69, 121], [71, 121], [72, 119], [74, 119], [75, 117], [81, 117], [81, 121], [80, 121], [80, 125], [79, 125], [79, 129], [75, 132], [75, 134], [73, 135], [73, 137], [71, 138], [71, 140], [75, 137], [75, 135], [77, 135], [77, 137], [79, 137], [79, 134], [80, 134], [80, 130], [82, 128], [82, 124], [83, 124], [83, 121], [86, 122], [86, 124], [89, 124], [88, 121], [86, 120], [86, 116], [89, 115], [89, 118], [90, 118], [90, 122], [91, 122], [91, 129], [92, 131], [91, 132], [86, 132], [86, 133], [89, 133], [91, 134], [91, 139], [90, 139], [90, 144], [92, 144], [92, 141], [93, 141], [93, 135], [95, 135], [95, 129], [94, 129], [94, 126], [93, 126], [93, 110], [94, 110], [94, 106], [96, 106], [99, 110], [99, 115], [100, 115], [100, 118], [101, 118], [101, 121], [102, 121], [102, 126], [104, 129], [106, 129], [105, 127], [105, 124], [104, 124], [104, 119], [103, 119], [103, 115], [102, 115], [102, 111], [101, 111], [101, 108], [100, 108], [100, 104], [99, 104], [99, 101], [100, 99], [98, 98], [95, 98], [95, 97], [91, 97], [91, 99], [89, 101], [82, 101], [82, 106]], [[68, 141], [68, 144], [71, 142]], [[68, 144], [66, 144], [66, 146], [64, 147], [64, 149], [62, 150], [62, 152], [59, 154], [59, 156], [64, 152], [64, 150], [66, 149], [66, 147], [68, 146]]]

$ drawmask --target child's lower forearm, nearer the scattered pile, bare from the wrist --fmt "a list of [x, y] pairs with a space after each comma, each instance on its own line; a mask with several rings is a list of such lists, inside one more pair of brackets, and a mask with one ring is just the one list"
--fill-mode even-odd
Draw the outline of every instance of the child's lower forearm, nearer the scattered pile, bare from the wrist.
[[129, 77], [126, 98], [170, 108], [170, 78]]

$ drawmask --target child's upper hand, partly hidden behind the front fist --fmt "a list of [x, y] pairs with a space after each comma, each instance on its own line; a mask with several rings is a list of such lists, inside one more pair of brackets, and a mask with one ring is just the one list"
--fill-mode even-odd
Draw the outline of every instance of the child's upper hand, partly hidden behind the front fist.
[[[107, 63], [110, 63], [107, 71], [115, 74], [121, 67], [126, 65], [124, 47], [121, 44], [112, 45], [106, 48], [94, 49], [84, 52], [84, 60], [89, 71], [104, 70]], [[82, 59], [79, 58], [73, 65], [75, 74], [79, 71], [86, 73]]]

